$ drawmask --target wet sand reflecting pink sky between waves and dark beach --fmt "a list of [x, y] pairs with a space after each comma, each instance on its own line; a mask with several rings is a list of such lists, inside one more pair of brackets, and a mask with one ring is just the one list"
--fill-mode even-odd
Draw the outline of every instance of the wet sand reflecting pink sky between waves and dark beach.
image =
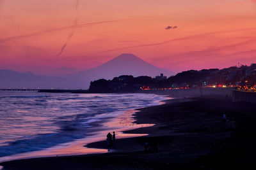
[[[161, 95], [163, 96], [163, 95]], [[154, 103], [157, 103], [156, 106], [159, 104], [163, 104], [163, 101], [166, 101], [170, 97], [163, 96], [162, 100], [156, 100]], [[153, 104], [153, 103], [152, 103]], [[154, 106], [154, 105], [153, 105]], [[15, 160], [26, 160], [26, 159], [41, 159], [46, 157], [69, 157], [69, 156], [76, 156], [76, 155], [90, 155], [90, 154], [97, 154], [97, 153], [108, 153], [108, 148], [100, 149], [100, 148], [87, 148], [84, 145], [95, 143], [97, 141], [105, 141], [104, 137], [100, 137], [100, 134], [107, 134], [108, 131], [114, 131], [119, 133], [121, 138], [132, 138], [136, 136], [145, 136], [147, 134], [127, 134], [123, 133], [123, 131], [129, 131], [131, 129], [136, 129], [140, 127], [148, 127], [151, 124], [134, 124], [134, 118], [132, 115], [138, 111], [138, 108], [129, 109], [122, 111], [121, 115], [118, 115], [115, 118], [110, 118], [108, 121], [100, 120], [102, 122], [102, 126], [106, 127], [107, 129], [111, 128], [111, 130], [100, 130], [100, 132], [94, 132], [92, 136], [88, 136], [86, 138], [77, 139], [76, 141], [70, 141], [68, 143], [62, 143], [60, 145], [52, 146], [51, 148], [45, 148], [43, 150], [33, 151], [33, 152], [24, 152], [24, 153], [17, 153], [15, 155], [8, 155], [1, 157], [1, 163], [10, 162]], [[122, 122], [122, 123], [119, 123]], [[97, 122], [96, 122], [97, 123]], [[93, 123], [95, 124], [95, 123]], [[67, 145], [67, 146], [66, 146]], [[76, 150], [72, 152], [71, 150]], [[66, 151], [67, 150], [67, 151]], [[29, 155], [29, 156], [28, 156]]]

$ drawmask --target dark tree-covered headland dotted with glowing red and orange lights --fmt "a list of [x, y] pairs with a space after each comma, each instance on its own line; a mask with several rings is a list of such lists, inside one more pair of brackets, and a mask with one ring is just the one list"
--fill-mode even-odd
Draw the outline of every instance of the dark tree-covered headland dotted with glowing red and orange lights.
[[239, 87], [256, 89], [256, 64], [225, 69], [189, 70], [166, 78], [164, 74], [150, 76], [122, 75], [112, 80], [95, 80], [90, 92], [139, 92], [141, 90], [178, 90]]

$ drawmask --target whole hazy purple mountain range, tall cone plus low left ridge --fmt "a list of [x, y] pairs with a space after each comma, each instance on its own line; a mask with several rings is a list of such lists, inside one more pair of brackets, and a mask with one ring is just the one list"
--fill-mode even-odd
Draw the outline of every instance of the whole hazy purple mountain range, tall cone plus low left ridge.
[[90, 81], [100, 78], [112, 79], [123, 74], [154, 77], [160, 73], [167, 77], [173, 74], [167, 69], [149, 64], [135, 55], [124, 53], [98, 67], [66, 76], [40, 76], [31, 72], [19, 73], [0, 69], [0, 88], [88, 89]]

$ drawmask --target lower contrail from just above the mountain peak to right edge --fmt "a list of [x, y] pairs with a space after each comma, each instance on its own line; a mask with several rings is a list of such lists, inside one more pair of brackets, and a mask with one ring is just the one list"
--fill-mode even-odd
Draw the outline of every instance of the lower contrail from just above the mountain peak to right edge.
[[164, 45], [166, 43], [171, 43], [173, 41], [180, 41], [180, 40], [184, 40], [184, 39], [193, 39], [193, 38], [197, 38], [197, 37], [200, 37], [200, 36], [208, 36], [208, 35], [212, 35], [212, 34], [221, 34], [221, 33], [237, 32], [237, 31], [250, 31], [250, 30], [254, 30], [254, 29], [256, 29], [256, 27], [246, 28], [246, 29], [234, 29], [234, 30], [228, 30], [228, 31], [208, 32], [208, 33], [204, 33], [204, 34], [196, 34], [194, 36], [186, 36], [186, 37], [183, 37], [183, 38], [168, 39], [166, 41], [162, 41], [162, 42], [159, 42], [159, 43], [125, 46], [125, 47], [121, 47], [121, 48], [115, 48], [115, 49], [111, 49], [111, 50], [102, 51], [102, 52], [99, 52], [99, 53], [113, 52], [113, 51], [117, 51], [117, 50], [125, 50], [125, 49], [129, 49], [129, 48], [140, 48], [140, 47], [145, 47], [145, 46]]

